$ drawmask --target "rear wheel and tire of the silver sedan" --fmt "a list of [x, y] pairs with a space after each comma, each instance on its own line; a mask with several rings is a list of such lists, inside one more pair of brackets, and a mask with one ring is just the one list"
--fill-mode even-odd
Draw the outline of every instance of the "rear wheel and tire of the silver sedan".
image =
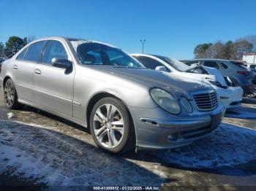
[[7, 79], [4, 83], [4, 103], [9, 109], [18, 109], [18, 95], [12, 79]]

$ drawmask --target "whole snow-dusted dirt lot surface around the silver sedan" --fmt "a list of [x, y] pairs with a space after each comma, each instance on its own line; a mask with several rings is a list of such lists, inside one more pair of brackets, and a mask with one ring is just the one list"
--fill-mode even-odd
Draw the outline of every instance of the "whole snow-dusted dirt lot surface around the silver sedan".
[[256, 187], [256, 104], [228, 111], [211, 136], [189, 146], [115, 156], [98, 149], [85, 128], [37, 109], [7, 119], [0, 100], [0, 185]]

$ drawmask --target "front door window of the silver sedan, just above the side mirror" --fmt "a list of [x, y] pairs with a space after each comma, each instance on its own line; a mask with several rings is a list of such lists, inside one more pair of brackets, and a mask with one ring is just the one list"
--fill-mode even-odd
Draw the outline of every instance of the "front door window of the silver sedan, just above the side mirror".
[[51, 65], [51, 61], [53, 58], [68, 58], [67, 52], [63, 44], [56, 40], [48, 41], [42, 56], [42, 63], [47, 63]]

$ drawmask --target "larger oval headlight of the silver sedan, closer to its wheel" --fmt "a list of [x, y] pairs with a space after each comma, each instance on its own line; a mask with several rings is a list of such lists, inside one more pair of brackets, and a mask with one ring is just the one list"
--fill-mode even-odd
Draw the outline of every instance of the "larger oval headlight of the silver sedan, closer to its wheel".
[[173, 95], [170, 95], [170, 93], [167, 93], [165, 90], [153, 88], [150, 90], [150, 94], [157, 105], [167, 112], [172, 114], [179, 114], [181, 112], [181, 107], [178, 105], [176, 98], [173, 98]]

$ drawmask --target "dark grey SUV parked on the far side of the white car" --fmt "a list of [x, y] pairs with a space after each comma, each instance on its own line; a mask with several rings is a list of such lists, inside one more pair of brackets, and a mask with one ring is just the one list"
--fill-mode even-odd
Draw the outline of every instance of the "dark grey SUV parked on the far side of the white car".
[[252, 79], [254, 78], [253, 72], [249, 71], [239, 63], [222, 59], [203, 58], [189, 61], [186, 64], [188, 66], [201, 65], [218, 69], [223, 76], [232, 77], [233, 80], [236, 80], [236, 82], [243, 88], [244, 95], [248, 95], [254, 91], [252, 83]]

